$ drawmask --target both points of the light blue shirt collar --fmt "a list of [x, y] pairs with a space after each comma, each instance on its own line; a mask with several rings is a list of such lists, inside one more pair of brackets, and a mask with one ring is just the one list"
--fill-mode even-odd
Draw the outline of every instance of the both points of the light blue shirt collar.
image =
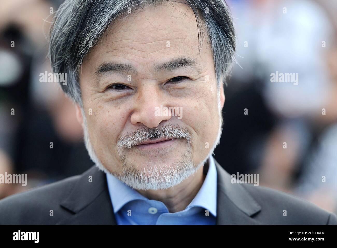
[[[217, 171], [212, 155], [208, 158], [207, 164], [208, 171], [205, 181], [186, 209], [199, 206], [209, 210], [212, 215], [216, 216]], [[117, 213], [125, 204], [132, 200], [149, 200], [110, 173], [106, 174], [106, 180], [114, 213]]]

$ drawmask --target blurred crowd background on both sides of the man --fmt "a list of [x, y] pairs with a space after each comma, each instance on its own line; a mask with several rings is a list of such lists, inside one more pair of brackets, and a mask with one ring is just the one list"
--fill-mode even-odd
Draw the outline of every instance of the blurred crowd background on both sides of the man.
[[[226, 2], [237, 64], [215, 159], [230, 174], [257, 173], [259, 185], [337, 213], [337, 1]], [[0, 199], [93, 165], [72, 103], [39, 80], [51, 72], [48, 33], [61, 3], [0, 2], [0, 174], [28, 178], [26, 187], [0, 184]], [[274, 82], [277, 72], [297, 74], [298, 85]]]

